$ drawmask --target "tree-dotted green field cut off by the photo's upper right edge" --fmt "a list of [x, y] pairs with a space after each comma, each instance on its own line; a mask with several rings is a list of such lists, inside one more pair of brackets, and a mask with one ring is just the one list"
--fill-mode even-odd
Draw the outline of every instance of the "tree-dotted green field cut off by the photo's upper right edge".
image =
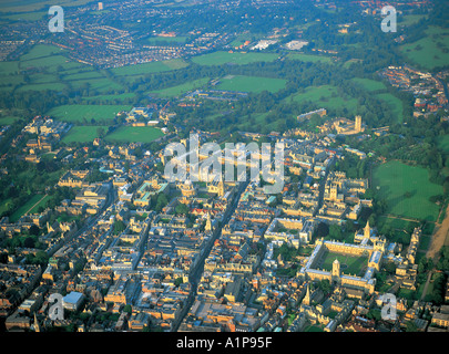
[[426, 37], [401, 45], [400, 51], [414, 63], [426, 70], [447, 66], [449, 63], [449, 30], [429, 27]]

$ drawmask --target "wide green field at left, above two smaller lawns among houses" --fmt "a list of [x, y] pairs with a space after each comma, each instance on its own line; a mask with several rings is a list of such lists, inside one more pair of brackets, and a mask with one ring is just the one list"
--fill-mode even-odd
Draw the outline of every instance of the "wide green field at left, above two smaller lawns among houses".
[[95, 121], [112, 121], [119, 112], [131, 111], [129, 105], [88, 105], [72, 104], [62, 105], [50, 110], [47, 115], [57, 119], [82, 124], [84, 119], [91, 123]]

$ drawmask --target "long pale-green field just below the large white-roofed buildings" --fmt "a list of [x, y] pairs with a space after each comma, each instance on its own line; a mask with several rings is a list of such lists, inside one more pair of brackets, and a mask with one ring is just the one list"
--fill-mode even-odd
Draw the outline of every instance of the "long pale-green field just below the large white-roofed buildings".
[[223, 65], [237, 64], [245, 65], [255, 62], [273, 62], [278, 58], [275, 53], [244, 53], [244, 52], [224, 52], [202, 54], [192, 58], [192, 62], [200, 65]]

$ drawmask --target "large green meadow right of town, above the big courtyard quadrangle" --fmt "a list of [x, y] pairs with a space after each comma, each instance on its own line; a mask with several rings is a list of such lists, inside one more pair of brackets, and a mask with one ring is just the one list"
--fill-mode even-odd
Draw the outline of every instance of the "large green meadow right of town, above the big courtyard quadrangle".
[[438, 217], [439, 207], [429, 197], [442, 194], [442, 187], [429, 181], [426, 168], [400, 162], [381, 164], [374, 169], [373, 188], [387, 202], [385, 214], [428, 221]]

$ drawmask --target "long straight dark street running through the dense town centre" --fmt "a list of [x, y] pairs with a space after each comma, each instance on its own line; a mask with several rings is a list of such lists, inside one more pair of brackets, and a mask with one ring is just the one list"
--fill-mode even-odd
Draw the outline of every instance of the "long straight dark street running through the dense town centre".
[[235, 194], [231, 205], [226, 208], [225, 215], [223, 217], [222, 226], [214, 230], [214, 233], [213, 233], [210, 242], [207, 243], [207, 246], [203, 249], [203, 252], [201, 253], [198, 262], [196, 263], [195, 268], [188, 274], [188, 282], [191, 284], [191, 293], [188, 294], [187, 302], [184, 305], [183, 310], [181, 311], [180, 316], [177, 316], [177, 320], [175, 320], [173, 322], [172, 332], [177, 332], [182, 321], [187, 315], [188, 310], [192, 308], [193, 302], [196, 296], [196, 291], [198, 288], [200, 280], [203, 274], [204, 262], [205, 262], [206, 258], [208, 257], [208, 254], [211, 253], [211, 250], [212, 250], [212, 247], [214, 246], [215, 240], [222, 236], [222, 228], [229, 221], [232, 215], [234, 214], [235, 209], [237, 208], [242, 192], [245, 190], [247, 185], [248, 185], [248, 181], [244, 181], [238, 186], [238, 190]]

